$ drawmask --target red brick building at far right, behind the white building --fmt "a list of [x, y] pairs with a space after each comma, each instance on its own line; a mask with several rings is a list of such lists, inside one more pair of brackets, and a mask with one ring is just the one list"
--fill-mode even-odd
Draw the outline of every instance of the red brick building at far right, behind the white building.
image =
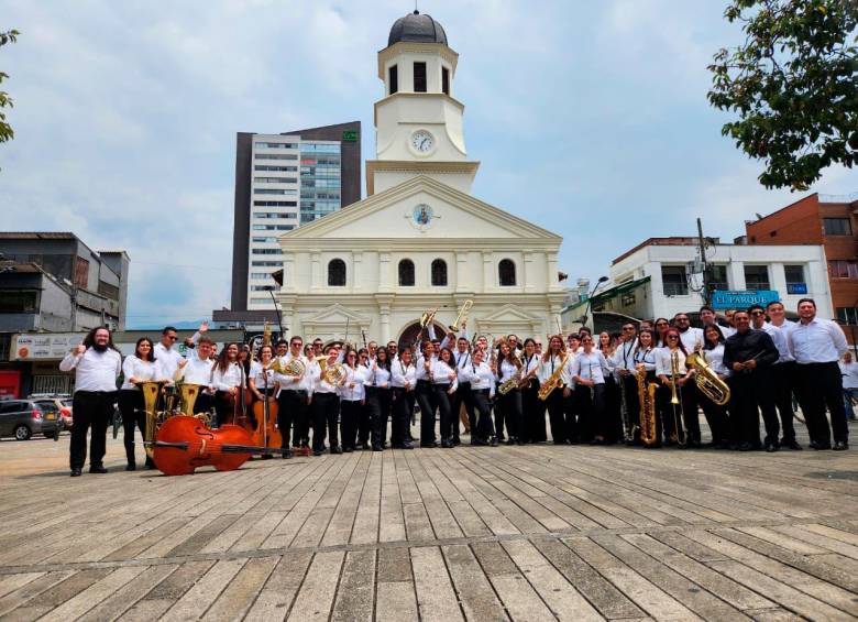
[[[822, 244], [836, 318], [851, 343], [858, 335], [858, 195], [813, 194], [745, 223], [748, 244]], [[789, 281], [789, 275], [788, 275]]]

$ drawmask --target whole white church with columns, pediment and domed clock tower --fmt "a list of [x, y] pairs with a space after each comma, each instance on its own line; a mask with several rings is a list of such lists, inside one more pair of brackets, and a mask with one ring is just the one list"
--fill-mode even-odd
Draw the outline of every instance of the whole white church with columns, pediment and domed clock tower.
[[468, 299], [471, 334], [557, 330], [562, 238], [471, 196], [480, 163], [465, 151], [457, 62], [429, 15], [394, 24], [378, 53], [367, 198], [279, 238], [290, 334], [407, 342], [424, 312], [446, 326]]

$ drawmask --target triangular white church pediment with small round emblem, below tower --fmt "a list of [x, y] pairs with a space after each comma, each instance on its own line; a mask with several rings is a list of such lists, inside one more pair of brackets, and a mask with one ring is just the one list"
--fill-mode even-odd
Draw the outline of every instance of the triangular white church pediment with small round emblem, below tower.
[[527, 240], [562, 238], [471, 195], [418, 176], [280, 236], [280, 241], [338, 239]]

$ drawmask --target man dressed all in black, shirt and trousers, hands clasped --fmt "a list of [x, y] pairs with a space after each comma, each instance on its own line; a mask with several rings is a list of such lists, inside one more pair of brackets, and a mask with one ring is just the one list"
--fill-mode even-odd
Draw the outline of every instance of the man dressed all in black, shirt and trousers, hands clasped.
[[733, 439], [741, 451], [760, 449], [759, 408], [766, 425], [766, 450], [777, 451], [780, 424], [769, 375], [780, 354], [765, 330], [751, 329], [748, 312], [738, 310], [733, 317], [736, 334], [724, 346], [724, 365], [732, 372], [727, 382]]

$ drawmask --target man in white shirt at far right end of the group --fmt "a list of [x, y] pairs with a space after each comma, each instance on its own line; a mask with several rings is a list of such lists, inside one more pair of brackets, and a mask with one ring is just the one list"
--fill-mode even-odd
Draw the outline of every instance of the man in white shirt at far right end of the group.
[[[837, 362], [846, 353], [846, 335], [836, 321], [816, 317], [812, 298], [799, 301], [800, 321], [790, 329], [788, 341], [799, 365], [799, 403], [804, 412], [811, 447], [814, 449], [849, 448], [849, 427], [843, 407], [843, 379]], [[825, 416], [825, 407], [832, 417]]]

